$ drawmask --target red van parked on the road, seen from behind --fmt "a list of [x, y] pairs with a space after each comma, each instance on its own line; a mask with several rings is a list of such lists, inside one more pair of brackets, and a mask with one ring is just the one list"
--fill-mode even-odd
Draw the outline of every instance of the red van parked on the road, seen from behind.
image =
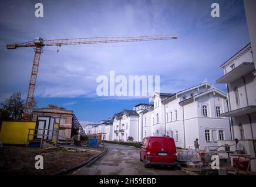
[[150, 165], [177, 165], [177, 152], [173, 138], [150, 136], [145, 137], [140, 148], [140, 161], [145, 168]]

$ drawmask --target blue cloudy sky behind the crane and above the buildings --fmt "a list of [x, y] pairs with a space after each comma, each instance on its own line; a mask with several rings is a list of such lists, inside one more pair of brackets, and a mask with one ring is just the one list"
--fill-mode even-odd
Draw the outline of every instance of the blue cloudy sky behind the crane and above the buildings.
[[[36, 2], [44, 18], [34, 15]], [[220, 4], [220, 18], [211, 4]], [[0, 99], [26, 97], [33, 49], [6, 50], [6, 43], [97, 36], [177, 34], [177, 40], [45, 47], [35, 96], [74, 110], [80, 121], [98, 122], [148, 98], [96, 96], [96, 78], [160, 75], [161, 92], [178, 92], [223, 75], [220, 65], [250, 42], [243, 1], [1, 1]]]

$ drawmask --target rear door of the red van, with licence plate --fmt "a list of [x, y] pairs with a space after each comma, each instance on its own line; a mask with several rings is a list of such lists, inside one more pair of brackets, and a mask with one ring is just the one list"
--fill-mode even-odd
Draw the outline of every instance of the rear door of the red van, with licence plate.
[[150, 137], [150, 162], [173, 163], [175, 161], [176, 146], [173, 138]]

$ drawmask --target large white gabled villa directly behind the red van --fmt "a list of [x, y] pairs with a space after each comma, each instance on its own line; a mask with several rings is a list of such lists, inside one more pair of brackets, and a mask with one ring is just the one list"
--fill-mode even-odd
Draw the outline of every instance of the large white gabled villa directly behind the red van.
[[154, 106], [140, 112], [142, 137], [170, 136], [178, 147], [217, 146], [218, 140], [231, 140], [227, 112], [227, 95], [204, 82], [174, 94], [154, 93]]

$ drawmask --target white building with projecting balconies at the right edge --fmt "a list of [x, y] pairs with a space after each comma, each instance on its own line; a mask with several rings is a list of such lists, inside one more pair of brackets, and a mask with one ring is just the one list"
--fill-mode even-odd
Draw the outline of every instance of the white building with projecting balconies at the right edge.
[[223, 77], [216, 82], [226, 84], [228, 112], [221, 116], [231, 117], [233, 139], [256, 139], [256, 68], [251, 44], [226, 61], [221, 68]]

